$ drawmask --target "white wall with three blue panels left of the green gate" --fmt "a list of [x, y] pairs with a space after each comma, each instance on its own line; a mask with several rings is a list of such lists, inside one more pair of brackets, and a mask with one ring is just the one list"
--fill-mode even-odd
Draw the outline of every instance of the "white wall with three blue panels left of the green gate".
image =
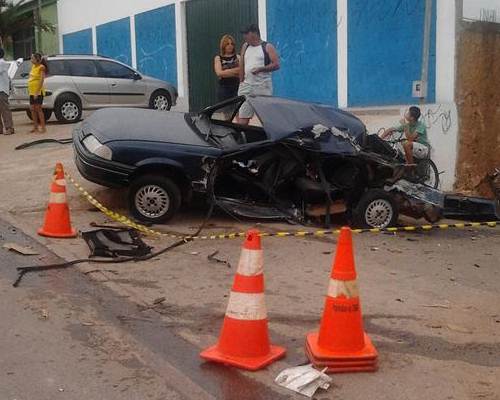
[[[172, 82], [184, 96], [184, 33], [176, 34], [176, 26], [184, 32], [181, 0], [59, 0], [58, 17], [62, 53], [119, 59]], [[179, 71], [178, 65], [183, 66]]]

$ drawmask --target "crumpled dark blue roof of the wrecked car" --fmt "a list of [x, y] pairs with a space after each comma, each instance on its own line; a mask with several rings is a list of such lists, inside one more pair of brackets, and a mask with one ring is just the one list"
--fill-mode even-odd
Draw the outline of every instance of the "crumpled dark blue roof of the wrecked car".
[[247, 100], [272, 140], [281, 140], [314, 125], [323, 125], [345, 131], [361, 144], [366, 132], [363, 122], [354, 115], [326, 104], [273, 96], [250, 96]]

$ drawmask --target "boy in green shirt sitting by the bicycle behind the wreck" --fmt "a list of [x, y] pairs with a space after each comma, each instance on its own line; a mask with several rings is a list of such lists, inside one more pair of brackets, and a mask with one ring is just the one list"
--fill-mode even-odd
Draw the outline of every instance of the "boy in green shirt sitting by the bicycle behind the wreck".
[[429, 142], [427, 140], [427, 128], [419, 121], [421, 112], [418, 107], [410, 107], [400, 125], [386, 129], [382, 139], [387, 138], [394, 132], [405, 134], [406, 140], [402, 142], [407, 164], [414, 164], [414, 157], [425, 158], [429, 155]]

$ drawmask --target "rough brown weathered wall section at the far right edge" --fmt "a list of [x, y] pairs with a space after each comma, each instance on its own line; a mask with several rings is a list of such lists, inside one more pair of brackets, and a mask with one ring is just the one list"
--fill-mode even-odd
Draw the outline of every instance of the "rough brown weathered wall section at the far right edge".
[[500, 167], [500, 25], [463, 23], [457, 51], [457, 188], [491, 196], [485, 178]]

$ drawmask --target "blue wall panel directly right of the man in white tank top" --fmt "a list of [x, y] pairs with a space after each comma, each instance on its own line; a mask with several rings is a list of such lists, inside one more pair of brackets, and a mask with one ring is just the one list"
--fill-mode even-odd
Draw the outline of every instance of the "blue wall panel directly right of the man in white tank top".
[[267, 0], [267, 36], [281, 57], [276, 96], [337, 104], [337, 2]]

